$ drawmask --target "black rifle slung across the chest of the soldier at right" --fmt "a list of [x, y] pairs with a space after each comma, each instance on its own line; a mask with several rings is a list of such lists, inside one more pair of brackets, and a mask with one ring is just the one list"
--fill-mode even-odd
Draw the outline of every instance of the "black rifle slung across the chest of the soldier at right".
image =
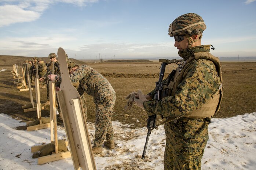
[[[160, 60], [159, 60], [160, 61]], [[168, 62], [162, 62], [161, 64], [161, 69], [160, 69], [160, 74], [159, 74], [159, 80], [158, 82], [156, 82], [156, 89], [155, 89], [155, 95], [154, 98], [157, 101], [160, 101], [161, 99], [161, 94], [162, 94], [162, 90], [163, 90], [163, 78], [164, 78], [164, 71], [165, 71], [165, 66], [168, 64]], [[143, 150], [143, 154], [142, 154], [142, 159], [145, 159], [145, 155], [146, 155], [146, 150], [147, 150], [147, 143], [149, 141], [149, 136], [151, 134], [151, 131], [153, 129], [156, 129], [156, 120], [157, 120], [157, 115], [154, 114], [152, 116], [149, 116], [149, 118], [147, 119], [147, 137], [146, 137], [146, 143], [144, 146], [144, 150]]]

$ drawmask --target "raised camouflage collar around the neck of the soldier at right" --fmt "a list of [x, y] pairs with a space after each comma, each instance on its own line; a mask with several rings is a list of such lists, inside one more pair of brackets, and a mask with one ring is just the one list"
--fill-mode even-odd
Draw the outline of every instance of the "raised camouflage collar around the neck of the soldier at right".
[[194, 53], [198, 52], [210, 52], [211, 45], [200, 45], [191, 48], [187, 48], [178, 52], [179, 56], [184, 60], [194, 56]]

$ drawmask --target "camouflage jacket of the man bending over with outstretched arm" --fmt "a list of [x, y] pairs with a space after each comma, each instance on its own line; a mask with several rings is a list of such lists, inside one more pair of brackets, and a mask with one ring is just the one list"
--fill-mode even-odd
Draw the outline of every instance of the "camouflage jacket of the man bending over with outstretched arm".
[[[61, 76], [58, 76], [58, 81], [61, 81]], [[116, 94], [113, 87], [100, 73], [93, 68], [82, 65], [77, 71], [70, 75], [72, 83], [80, 82], [84, 92], [94, 98], [94, 102], [98, 103], [109, 95]]]

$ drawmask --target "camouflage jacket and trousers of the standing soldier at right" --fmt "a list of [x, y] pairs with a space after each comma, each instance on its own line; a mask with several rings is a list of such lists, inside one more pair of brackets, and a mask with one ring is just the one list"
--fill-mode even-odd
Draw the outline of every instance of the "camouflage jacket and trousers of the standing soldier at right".
[[[181, 50], [179, 55], [188, 60], [198, 54], [210, 55], [209, 51], [210, 45], [202, 45]], [[204, 106], [222, 84], [221, 69], [217, 69], [220, 67], [219, 63], [206, 58], [191, 59], [185, 67], [178, 69], [183, 69], [183, 76], [172, 95], [163, 97], [160, 101], [153, 99], [143, 103], [149, 116], [157, 114], [165, 118], [181, 117], [176, 123], [172, 121], [165, 124], [165, 170], [201, 169], [211, 117], [188, 118], [187, 115]], [[177, 74], [179, 71], [176, 71], [175, 76]], [[167, 81], [168, 78], [163, 83], [167, 84]], [[148, 95], [154, 98], [154, 91]]]

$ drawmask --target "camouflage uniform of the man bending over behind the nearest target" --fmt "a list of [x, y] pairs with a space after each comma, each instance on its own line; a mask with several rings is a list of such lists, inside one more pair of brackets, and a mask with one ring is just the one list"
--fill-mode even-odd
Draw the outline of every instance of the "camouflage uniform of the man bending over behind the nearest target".
[[[61, 81], [61, 76], [58, 76]], [[100, 73], [87, 65], [83, 65], [70, 75], [72, 83], [80, 82], [79, 90], [94, 98], [96, 105], [94, 147], [101, 147], [104, 140], [113, 140], [111, 117], [116, 101], [116, 92], [111, 84]]]

